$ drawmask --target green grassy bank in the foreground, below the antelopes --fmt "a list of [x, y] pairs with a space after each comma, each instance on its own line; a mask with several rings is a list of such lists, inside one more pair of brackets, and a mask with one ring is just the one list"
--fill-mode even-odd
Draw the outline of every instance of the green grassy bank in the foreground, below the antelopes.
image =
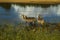
[[[29, 29], [29, 30], [28, 30]], [[36, 27], [36, 31], [22, 24], [0, 25], [0, 40], [60, 40], [60, 32], [54, 31], [50, 33], [42, 28]]]

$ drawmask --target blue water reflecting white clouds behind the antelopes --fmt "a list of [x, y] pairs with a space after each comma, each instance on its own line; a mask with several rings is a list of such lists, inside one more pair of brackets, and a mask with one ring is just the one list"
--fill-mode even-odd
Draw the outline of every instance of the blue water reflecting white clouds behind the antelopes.
[[40, 14], [46, 22], [60, 22], [60, 5], [50, 6], [48, 8], [35, 6], [11, 5], [10, 10], [0, 7], [0, 23], [18, 23], [21, 22], [21, 15], [36, 17]]

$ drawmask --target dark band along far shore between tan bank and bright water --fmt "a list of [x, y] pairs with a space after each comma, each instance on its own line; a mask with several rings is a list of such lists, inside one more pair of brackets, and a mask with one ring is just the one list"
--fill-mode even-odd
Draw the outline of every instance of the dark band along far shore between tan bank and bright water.
[[17, 5], [20, 5], [20, 6], [26, 6], [26, 5], [31, 5], [31, 6], [41, 6], [43, 8], [47, 8], [47, 7], [50, 7], [51, 5], [53, 6], [57, 6], [59, 4], [34, 4], [34, 3], [0, 3], [0, 6], [4, 7], [5, 9], [10, 9], [11, 7], [11, 4], [17, 4]]

